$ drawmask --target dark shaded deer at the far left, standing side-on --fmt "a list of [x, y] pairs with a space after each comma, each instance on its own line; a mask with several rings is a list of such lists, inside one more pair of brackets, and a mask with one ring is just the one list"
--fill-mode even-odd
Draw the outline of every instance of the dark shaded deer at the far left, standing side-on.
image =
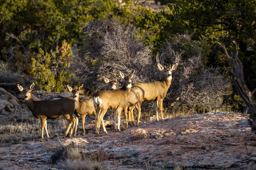
[[25, 102], [27, 107], [35, 118], [41, 120], [41, 141], [44, 139], [44, 129], [47, 135], [47, 141], [49, 140], [49, 134], [47, 131], [47, 119], [58, 119], [61, 116], [69, 123], [66, 133], [64, 133], [63, 138], [67, 136], [70, 127], [70, 137], [73, 134], [73, 129], [75, 127], [76, 119], [73, 117], [73, 113], [76, 108], [76, 102], [73, 99], [62, 98], [57, 100], [40, 100], [34, 101], [32, 99], [31, 91], [35, 88], [35, 83], [32, 83], [28, 89], [24, 89], [21, 85], [17, 85], [19, 91], [23, 91], [25, 94]]

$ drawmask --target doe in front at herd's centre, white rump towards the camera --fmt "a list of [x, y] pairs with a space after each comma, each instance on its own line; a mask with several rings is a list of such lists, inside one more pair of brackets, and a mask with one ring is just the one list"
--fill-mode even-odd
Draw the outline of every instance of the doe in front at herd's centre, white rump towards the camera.
[[[95, 117], [95, 128], [96, 134], [99, 134], [99, 127], [102, 122], [103, 130], [106, 134], [108, 134], [103, 117], [108, 109], [114, 110], [114, 122], [115, 122], [115, 131], [120, 130], [120, 118], [122, 109], [126, 105], [126, 98], [131, 91], [131, 79], [134, 75], [134, 71], [131, 72], [129, 76], [124, 76], [124, 74], [120, 71], [120, 77], [124, 78], [124, 85], [122, 88], [118, 90], [112, 91], [99, 91], [93, 97], [93, 104], [96, 110]], [[116, 129], [116, 116], [118, 117], [118, 127]]]

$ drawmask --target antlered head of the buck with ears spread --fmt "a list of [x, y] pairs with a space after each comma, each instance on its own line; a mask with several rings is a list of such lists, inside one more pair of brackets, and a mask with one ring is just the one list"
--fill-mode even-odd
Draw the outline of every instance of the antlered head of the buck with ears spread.
[[[174, 55], [175, 55], [175, 53], [174, 53]], [[178, 62], [179, 62], [179, 55], [178, 55], [178, 53], [175, 55], [175, 57], [176, 57], [175, 64], [173, 64], [173, 65], [170, 64], [169, 67], [166, 67], [165, 65], [161, 65], [160, 64], [159, 58], [158, 58], [158, 53], [157, 53], [157, 56], [156, 56], [157, 68], [158, 68], [158, 70], [165, 72], [165, 77], [167, 79], [172, 79], [172, 71], [176, 70], [176, 68], [178, 66]]]

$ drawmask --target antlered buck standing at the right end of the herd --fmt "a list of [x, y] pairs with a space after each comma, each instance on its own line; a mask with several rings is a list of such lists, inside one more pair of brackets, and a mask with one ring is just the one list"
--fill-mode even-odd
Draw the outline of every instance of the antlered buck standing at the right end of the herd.
[[[175, 54], [175, 53], [174, 53]], [[174, 65], [170, 65], [166, 67], [159, 63], [158, 53], [156, 56], [157, 60], [157, 68], [160, 71], [164, 71], [163, 78], [160, 81], [154, 81], [151, 83], [136, 83], [134, 86], [139, 86], [145, 91], [143, 101], [151, 101], [154, 100], [154, 105], [156, 108], [156, 116], [158, 119], [158, 110], [160, 108], [161, 116], [163, 119], [163, 99], [165, 98], [167, 91], [172, 83], [172, 71], [176, 70], [179, 62], [179, 55], [176, 53], [176, 60]], [[138, 114], [137, 126], [139, 126], [140, 114]]]

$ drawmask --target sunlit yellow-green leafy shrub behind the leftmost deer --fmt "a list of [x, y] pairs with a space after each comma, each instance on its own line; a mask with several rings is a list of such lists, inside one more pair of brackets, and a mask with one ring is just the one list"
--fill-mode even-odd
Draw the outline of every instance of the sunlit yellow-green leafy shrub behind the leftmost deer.
[[32, 58], [32, 68], [29, 73], [36, 79], [36, 85], [40, 89], [64, 91], [64, 85], [69, 82], [70, 74], [67, 70], [70, 65], [69, 59], [73, 57], [70, 45], [64, 40], [62, 47], [45, 53], [40, 48], [40, 53]]

